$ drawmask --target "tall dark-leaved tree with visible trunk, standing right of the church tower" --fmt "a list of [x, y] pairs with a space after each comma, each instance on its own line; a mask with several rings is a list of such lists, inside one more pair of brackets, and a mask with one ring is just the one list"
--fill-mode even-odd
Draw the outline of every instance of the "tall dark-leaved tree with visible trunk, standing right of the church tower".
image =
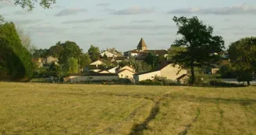
[[182, 37], [176, 39], [172, 46], [186, 48], [186, 51], [177, 53], [172, 57], [172, 62], [179, 64], [183, 68], [190, 68], [190, 83], [194, 84], [194, 67], [209, 66], [218, 60], [219, 52], [224, 48], [224, 41], [220, 36], [213, 36], [213, 28], [205, 25], [196, 16], [192, 18], [173, 17], [179, 30], [178, 35]]

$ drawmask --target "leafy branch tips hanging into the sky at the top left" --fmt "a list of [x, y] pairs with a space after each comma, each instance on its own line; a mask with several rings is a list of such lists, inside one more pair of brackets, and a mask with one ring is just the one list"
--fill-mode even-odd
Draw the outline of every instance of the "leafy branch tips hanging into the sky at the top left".
[[[9, 0], [0, 0], [2, 1], [9, 1]], [[52, 4], [56, 3], [56, 0], [13, 0], [14, 5], [20, 5], [23, 9], [27, 8], [28, 10], [34, 9], [34, 3], [39, 2], [39, 4], [44, 9], [49, 9]]]

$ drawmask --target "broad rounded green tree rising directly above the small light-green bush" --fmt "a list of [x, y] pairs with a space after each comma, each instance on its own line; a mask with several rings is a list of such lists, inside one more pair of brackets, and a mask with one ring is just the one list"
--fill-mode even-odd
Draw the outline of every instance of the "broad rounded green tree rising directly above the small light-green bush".
[[73, 41], [66, 41], [62, 44], [62, 52], [59, 54], [59, 62], [65, 63], [69, 58], [80, 59], [82, 50]]

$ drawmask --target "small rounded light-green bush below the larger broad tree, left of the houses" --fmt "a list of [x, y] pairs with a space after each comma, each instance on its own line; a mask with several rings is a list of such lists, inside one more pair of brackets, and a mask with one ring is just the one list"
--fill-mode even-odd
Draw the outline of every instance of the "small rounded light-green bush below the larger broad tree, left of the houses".
[[65, 68], [67, 73], [78, 73], [79, 71], [78, 60], [73, 57], [67, 59], [65, 63]]

